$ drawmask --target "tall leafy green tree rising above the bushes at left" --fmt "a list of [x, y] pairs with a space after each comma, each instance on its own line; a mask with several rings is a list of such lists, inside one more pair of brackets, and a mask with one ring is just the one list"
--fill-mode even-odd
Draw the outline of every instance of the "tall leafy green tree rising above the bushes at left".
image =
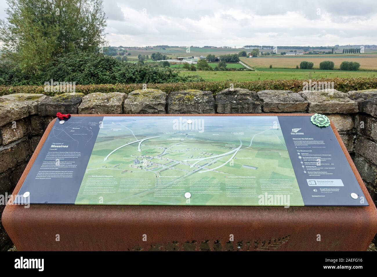
[[36, 75], [61, 54], [105, 44], [102, 0], [7, 0], [0, 22], [2, 51], [22, 72]]

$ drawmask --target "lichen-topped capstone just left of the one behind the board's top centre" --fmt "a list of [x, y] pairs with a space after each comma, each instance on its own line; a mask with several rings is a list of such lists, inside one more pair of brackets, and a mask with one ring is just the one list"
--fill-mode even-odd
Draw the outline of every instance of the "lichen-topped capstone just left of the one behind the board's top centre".
[[159, 89], [138, 89], [124, 100], [124, 113], [165, 113], [167, 94]]

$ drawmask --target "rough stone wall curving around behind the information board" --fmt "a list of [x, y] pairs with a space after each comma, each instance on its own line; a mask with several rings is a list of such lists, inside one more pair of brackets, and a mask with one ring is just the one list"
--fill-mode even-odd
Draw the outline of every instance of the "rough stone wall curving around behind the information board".
[[[126, 93], [17, 93], [0, 97], [0, 195], [14, 190], [49, 122], [71, 114], [323, 113], [336, 125], [348, 152], [377, 204], [377, 89], [292, 92], [225, 89], [210, 91], [135, 90]], [[0, 205], [2, 213], [4, 205]], [[0, 249], [11, 241], [0, 222]]]

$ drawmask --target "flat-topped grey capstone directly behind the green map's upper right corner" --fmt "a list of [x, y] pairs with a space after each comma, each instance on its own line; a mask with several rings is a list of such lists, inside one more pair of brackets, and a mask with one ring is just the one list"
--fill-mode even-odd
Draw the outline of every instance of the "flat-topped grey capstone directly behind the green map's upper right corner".
[[308, 106], [308, 101], [291, 90], [261, 90], [257, 95], [264, 112], [303, 112]]

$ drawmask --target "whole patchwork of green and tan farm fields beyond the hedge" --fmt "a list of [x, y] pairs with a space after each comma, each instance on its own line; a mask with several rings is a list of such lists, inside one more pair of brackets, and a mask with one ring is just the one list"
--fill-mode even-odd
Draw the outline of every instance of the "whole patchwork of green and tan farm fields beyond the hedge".
[[[216, 57], [225, 54], [234, 54], [240, 51], [249, 53], [252, 49], [235, 49], [235, 48], [210, 48], [210, 47], [190, 47], [190, 52], [186, 52], [186, 47], [150, 47], [129, 49], [131, 52], [130, 62], [136, 62], [137, 55], [152, 55], [152, 53], [160, 52], [167, 55], [167, 59], [185, 56], [207, 56], [213, 54]], [[341, 49], [337, 50], [338, 54], [311, 54], [311, 55], [280, 55], [280, 51], [288, 49], [279, 49], [277, 54], [258, 57], [240, 57], [240, 60], [250, 66], [253, 71], [187, 71], [182, 69], [183, 64], [171, 64], [170, 68], [179, 70], [182, 76], [199, 75], [207, 81], [251, 81], [251, 80], [288, 80], [288, 79], [314, 79], [314, 78], [354, 78], [354, 77], [375, 77], [377, 76], [377, 51], [376, 49], [365, 49], [365, 53], [360, 54], [342, 54]], [[269, 50], [260, 49], [260, 52], [268, 52]], [[133, 61], [134, 60], [134, 61]], [[314, 64], [313, 69], [296, 69], [301, 61], [309, 61]], [[322, 61], [333, 61], [334, 70], [319, 70], [319, 64]], [[340, 71], [339, 66], [343, 61], [354, 61], [360, 63], [359, 71]], [[161, 66], [159, 62], [146, 60], [147, 64]], [[208, 63], [213, 69], [217, 63]], [[270, 65], [272, 68], [269, 68]], [[239, 63], [227, 63], [227, 69], [245, 68]]]

